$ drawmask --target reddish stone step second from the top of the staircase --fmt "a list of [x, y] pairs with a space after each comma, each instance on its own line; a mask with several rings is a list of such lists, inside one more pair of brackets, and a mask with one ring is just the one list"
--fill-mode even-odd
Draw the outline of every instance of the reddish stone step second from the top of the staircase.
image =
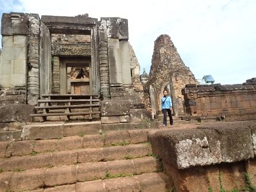
[[78, 148], [109, 147], [147, 142], [152, 129], [108, 131], [103, 134], [70, 136], [52, 140], [24, 140], [0, 142], [0, 158], [26, 156], [43, 152], [58, 152]]

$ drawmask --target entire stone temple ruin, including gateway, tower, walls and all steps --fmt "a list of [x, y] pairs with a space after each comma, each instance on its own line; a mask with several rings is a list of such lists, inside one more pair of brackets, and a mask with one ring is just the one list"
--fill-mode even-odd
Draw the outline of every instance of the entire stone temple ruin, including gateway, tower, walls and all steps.
[[256, 191], [255, 77], [199, 84], [168, 35], [140, 76], [118, 17], [1, 24], [0, 191]]

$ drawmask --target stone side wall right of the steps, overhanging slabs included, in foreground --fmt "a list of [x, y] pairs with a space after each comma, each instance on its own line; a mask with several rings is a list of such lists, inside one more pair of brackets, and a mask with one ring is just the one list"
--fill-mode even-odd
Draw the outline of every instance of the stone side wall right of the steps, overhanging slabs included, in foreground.
[[255, 121], [216, 122], [157, 131], [149, 141], [175, 191], [242, 191], [256, 186], [255, 136]]

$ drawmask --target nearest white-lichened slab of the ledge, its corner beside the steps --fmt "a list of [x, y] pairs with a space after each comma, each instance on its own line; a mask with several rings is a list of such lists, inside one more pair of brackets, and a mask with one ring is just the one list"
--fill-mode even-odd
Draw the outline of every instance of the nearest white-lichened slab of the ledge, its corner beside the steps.
[[149, 141], [154, 154], [178, 169], [221, 162], [220, 141], [214, 131], [157, 131], [149, 134]]

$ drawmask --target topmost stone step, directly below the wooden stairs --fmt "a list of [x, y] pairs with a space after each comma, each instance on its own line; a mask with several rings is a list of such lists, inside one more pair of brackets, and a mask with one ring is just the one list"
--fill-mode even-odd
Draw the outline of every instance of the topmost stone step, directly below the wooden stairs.
[[17, 140], [44, 140], [58, 139], [68, 136], [99, 134], [99, 132], [138, 130], [138, 129], [158, 129], [157, 122], [129, 123], [129, 124], [101, 124], [95, 122], [75, 122], [75, 123], [33, 123], [22, 126], [17, 131], [1, 131], [0, 141]]

